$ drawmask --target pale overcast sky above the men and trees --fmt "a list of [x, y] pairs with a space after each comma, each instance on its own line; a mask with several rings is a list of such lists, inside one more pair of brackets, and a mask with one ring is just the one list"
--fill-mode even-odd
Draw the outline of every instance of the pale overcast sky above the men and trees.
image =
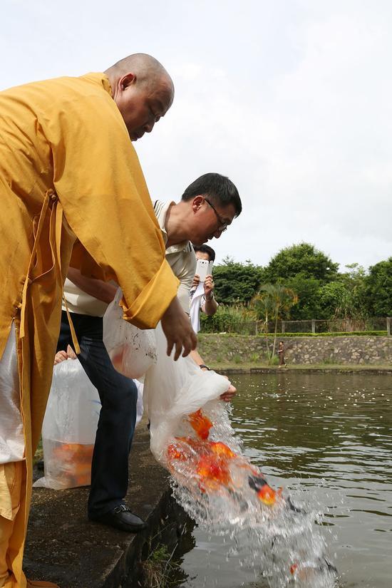
[[135, 143], [153, 200], [234, 181], [218, 240], [265, 265], [311, 242], [365, 267], [392, 255], [390, 0], [1, 0], [0, 88], [151, 53], [175, 102]]

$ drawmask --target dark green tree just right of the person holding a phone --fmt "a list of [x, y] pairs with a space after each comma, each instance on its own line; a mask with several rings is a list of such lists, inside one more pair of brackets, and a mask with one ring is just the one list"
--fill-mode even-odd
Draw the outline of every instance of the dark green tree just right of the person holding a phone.
[[231, 257], [223, 259], [214, 267], [215, 296], [220, 304], [248, 303], [262, 283], [264, 269], [252, 264], [234, 262]]

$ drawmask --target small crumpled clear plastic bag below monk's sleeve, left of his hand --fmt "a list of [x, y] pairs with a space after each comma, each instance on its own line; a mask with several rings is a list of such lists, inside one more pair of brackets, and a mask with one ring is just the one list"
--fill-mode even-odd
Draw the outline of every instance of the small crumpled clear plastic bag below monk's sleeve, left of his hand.
[[140, 378], [157, 360], [155, 330], [138, 329], [125, 321], [121, 296], [119, 288], [103, 316], [103, 343], [117, 371], [128, 378]]

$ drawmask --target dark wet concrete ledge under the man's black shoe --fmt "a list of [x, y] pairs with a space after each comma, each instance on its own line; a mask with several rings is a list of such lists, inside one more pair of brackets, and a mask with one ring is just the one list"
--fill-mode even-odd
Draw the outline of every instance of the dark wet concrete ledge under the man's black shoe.
[[125, 500], [148, 528], [134, 535], [88, 521], [88, 488], [36, 488], [24, 556], [27, 577], [56, 582], [60, 588], [143, 586], [140, 560], [159, 543], [172, 545], [186, 521], [149, 444], [142, 421], [133, 440]]

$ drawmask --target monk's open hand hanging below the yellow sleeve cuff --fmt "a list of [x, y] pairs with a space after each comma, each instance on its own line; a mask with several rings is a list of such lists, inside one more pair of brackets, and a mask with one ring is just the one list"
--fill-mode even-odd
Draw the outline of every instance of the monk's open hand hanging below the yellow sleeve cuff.
[[182, 310], [177, 296], [170, 302], [161, 323], [167, 339], [167, 355], [170, 355], [175, 347], [174, 361], [177, 361], [181, 352], [182, 357], [186, 357], [192, 349], [195, 349], [197, 344], [195, 331], [192, 329], [189, 317]]

